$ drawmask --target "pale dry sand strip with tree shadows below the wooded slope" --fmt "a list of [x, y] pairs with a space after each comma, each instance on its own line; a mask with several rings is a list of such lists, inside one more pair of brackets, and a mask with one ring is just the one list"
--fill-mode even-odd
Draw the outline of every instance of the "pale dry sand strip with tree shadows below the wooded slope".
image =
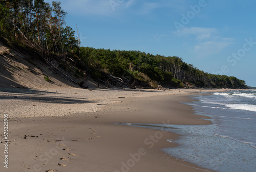
[[[224, 90], [224, 89], [223, 89]], [[106, 105], [121, 103], [125, 97], [150, 97], [156, 95], [179, 95], [200, 92], [197, 89], [81, 89], [74, 87], [55, 88], [1, 88], [0, 114], [10, 118], [66, 116], [74, 113], [96, 112]], [[204, 90], [217, 91], [217, 90]]]

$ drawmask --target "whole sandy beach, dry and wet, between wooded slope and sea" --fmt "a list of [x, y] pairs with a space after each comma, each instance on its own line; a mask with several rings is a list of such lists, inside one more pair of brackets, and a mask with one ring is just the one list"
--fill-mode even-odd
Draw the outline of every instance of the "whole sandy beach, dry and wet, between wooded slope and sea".
[[[9, 115], [9, 151], [8, 168], [2, 163], [0, 170], [210, 171], [160, 150], [177, 146], [166, 141], [177, 134], [117, 125], [210, 124], [180, 103], [199, 92], [3, 88], [1, 118]], [[0, 145], [4, 162], [5, 145]]]

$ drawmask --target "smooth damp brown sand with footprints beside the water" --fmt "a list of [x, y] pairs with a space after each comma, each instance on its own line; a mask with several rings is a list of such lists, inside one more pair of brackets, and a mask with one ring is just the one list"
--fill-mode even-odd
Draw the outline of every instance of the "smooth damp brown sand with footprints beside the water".
[[[18, 153], [18, 155], [10, 153], [12, 157], [10, 162], [15, 162], [10, 165], [10, 168], [14, 167], [17, 170], [22, 167], [23, 170], [20, 171], [24, 171], [39, 165], [40, 171], [49, 169], [83, 171], [85, 166], [88, 168], [86, 171], [104, 169], [117, 172], [125, 171], [127, 168], [129, 168], [127, 171], [211, 171], [177, 160], [160, 150], [177, 146], [176, 143], [166, 141], [178, 139], [177, 134], [168, 132], [161, 135], [159, 130], [113, 124], [119, 122], [211, 124], [209, 120], [202, 119], [208, 117], [196, 115], [193, 108], [180, 103], [192, 101], [188, 97], [197, 93], [190, 93], [189, 90], [179, 95], [166, 95], [166, 92], [164, 94], [127, 97], [120, 102], [102, 107], [98, 112], [86, 113], [86, 115], [83, 112], [67, 116], [17, 118], [18, 121], [10, 121], [12, 126], [10, 131], [14, 133], [11, 134], [14, 137], [9, 146], [13, 152]], [[25, 135], [38, 136], [38, 138], [24, 139]], [[152, 140], [151, 136], [159, 139]], [[67, 145], [61, 142], [67, 142]], [[62, 149], [67, 147], [69, 151], [58, 150], [57, 145], [58, 147], [60, 145]], [[23, 152], [20, 148], [31, 151]], [[47, 157], [44, 152], [50, 152], [54, 148], [57, 149], [57, 154], [54, 153], [54, 156], [48, 159], [49, 163], [46, 164]], [[26, 157], [27, 160], [22, 157]], [[60, 160], [60, 158], [65, 160]], [[23, 163], [17, 164], [20, 159], [23, 159]]]

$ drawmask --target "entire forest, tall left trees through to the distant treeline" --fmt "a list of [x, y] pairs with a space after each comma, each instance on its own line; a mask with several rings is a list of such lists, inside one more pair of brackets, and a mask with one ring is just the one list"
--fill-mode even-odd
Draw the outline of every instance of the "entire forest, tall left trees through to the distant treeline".
[[76, 77], [87, 73], [112, 86], [247, 88], [243, 80], [212, 75], [179, 57], [82, 47], [78, 28], [75, 32], [67, 26], [66, 15], [60, 2], [0, 0], [0, 36], [12, 46], [37, 52], [42, 59], [61, 59], [59, 67], [72, 65]]

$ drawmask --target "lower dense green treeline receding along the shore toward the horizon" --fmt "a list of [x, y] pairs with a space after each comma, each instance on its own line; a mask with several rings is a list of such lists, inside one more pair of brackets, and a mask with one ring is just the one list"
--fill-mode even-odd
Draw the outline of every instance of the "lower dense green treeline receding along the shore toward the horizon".
[[[77, 54], [78, 55], [78, 54]], [[80, 58], [95, 68], [122, 77], [125, 72], [137, 79], [144, 75], [165, 86], [183, 87], [193, 83], [199, 87], [246, 88], [236, 77], [212, 75], [183, 62], [179, 57], [152, 55], [140, 51], [119, 51], [81, 47]]]

